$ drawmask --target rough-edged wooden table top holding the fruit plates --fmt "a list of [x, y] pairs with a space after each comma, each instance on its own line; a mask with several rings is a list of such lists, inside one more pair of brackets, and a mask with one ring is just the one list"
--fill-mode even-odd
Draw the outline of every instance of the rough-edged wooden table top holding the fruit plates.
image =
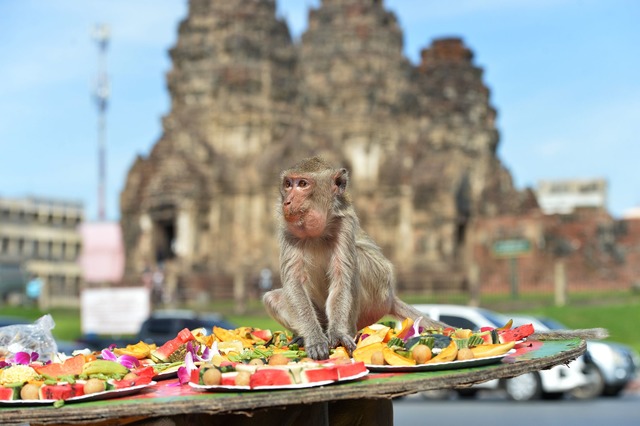
[[177, 379], [117, 399], [50, 405], [0, 405], [11, 425], [391, 425], [392, 399], [421, 391], [469, 387], [568, 364], [582, 339], [530, 340], [495, 364], [423, 372], [369, 373], [345, 383], [304, 389], [201, 392]]

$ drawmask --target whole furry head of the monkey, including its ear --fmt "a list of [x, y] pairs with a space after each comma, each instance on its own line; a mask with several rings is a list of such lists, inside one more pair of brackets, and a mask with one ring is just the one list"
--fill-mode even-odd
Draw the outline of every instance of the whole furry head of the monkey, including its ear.
[[334, 169], [319, 157], [283, 171], [282, 215], [289, 232], [301, 239], [323, 236], [329, 221], [351, 204], [348, 182], [347, 169]]

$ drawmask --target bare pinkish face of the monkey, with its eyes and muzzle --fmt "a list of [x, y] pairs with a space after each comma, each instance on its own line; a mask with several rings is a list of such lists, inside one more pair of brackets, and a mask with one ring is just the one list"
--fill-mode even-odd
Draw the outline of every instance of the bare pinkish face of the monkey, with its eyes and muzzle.
[[324, 233], [327, 211], [314, 207], [315, 179], [307, 175], [286, 175], [282, 180], [282, 213], [287, 229], [298, 238], [315, 238]]

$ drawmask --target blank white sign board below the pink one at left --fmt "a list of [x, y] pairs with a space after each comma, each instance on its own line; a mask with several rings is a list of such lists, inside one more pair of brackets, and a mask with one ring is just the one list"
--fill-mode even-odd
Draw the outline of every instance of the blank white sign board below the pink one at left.
[[83, 334], [136, 334], [151, 312], [144, 287], [86, 289], [80, 301]]

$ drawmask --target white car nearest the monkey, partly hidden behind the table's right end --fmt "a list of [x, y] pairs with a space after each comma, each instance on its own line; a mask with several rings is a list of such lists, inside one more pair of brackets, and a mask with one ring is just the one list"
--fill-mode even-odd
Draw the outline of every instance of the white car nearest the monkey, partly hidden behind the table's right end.
[[[432, 319], [442, 321], [456, 328], [478, 330], [480, 327], [502, 327], [509, 317], [484, 308], [461, 305], [414, 305], [416, 309]], [[535, 326], [534, 326], [535, 328]], [[509, 379], [490, 380], [470, 388], [457, 389], [460, 397], [474, 397], [480, 390], [503, 391], [514, 401], [528, 401], [539, 398], [561, 398], [573, 389], [586, 386], [589, 378], [585, 375], [584, 356], [569, 365], [557, 365], [548, 370], [525, 373]], [[426, 393], [425, 397], [432, 394]], [[439, 394], [438, 397], [445, 395]], [[446, 394], [448, 396], [448, 393]]]

